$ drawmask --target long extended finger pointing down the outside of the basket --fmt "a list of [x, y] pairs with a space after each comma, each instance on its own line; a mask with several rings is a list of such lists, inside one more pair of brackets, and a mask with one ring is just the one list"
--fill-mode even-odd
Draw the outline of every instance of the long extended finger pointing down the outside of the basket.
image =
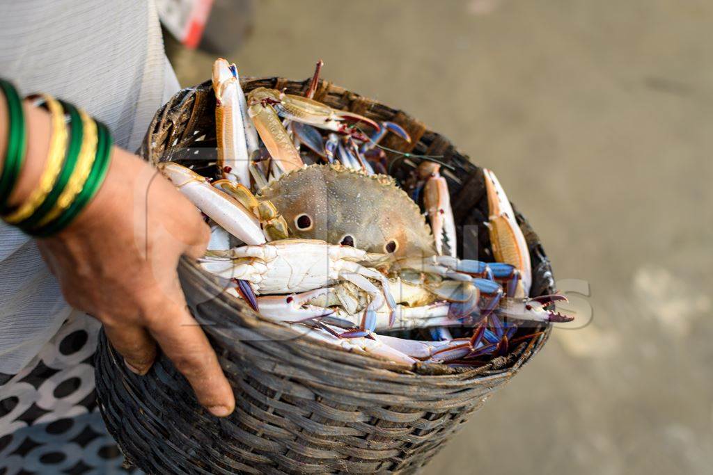
[[235, 396], [198, 322], [171, 299], [152, 308], [148, 329], [193, 387], [198, 402], [215, 416], [229, 415], [235, 409]]

